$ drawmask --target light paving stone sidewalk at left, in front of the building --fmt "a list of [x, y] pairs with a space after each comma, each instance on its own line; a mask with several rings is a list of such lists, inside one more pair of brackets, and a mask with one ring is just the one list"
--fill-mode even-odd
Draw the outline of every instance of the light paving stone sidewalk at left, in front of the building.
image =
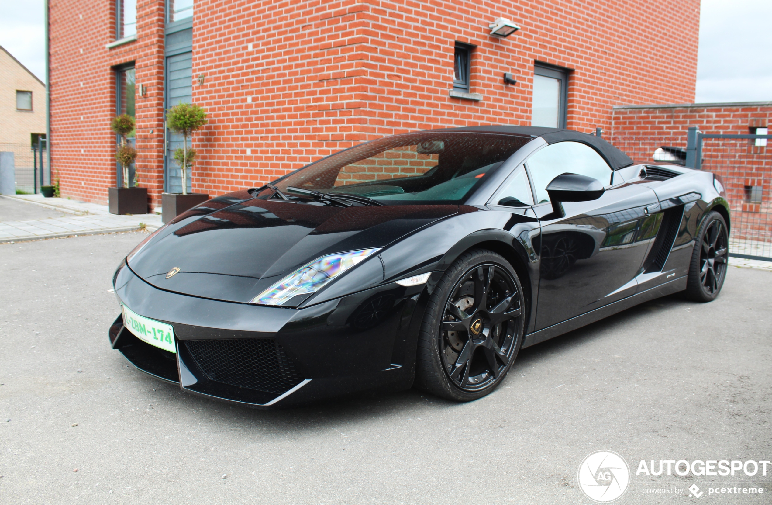
[[62, 217], [0, 222], [0, 243], [53, 239], [96, 233], [130, 232], [142, 226], [153, 232], [161, 227], [161, 215], [114, 215], [107, 205], [77, 202], [66, 198], [43, 198], [42, 195], [2, 196], [19, 203], [30, 203], [65, 212]]

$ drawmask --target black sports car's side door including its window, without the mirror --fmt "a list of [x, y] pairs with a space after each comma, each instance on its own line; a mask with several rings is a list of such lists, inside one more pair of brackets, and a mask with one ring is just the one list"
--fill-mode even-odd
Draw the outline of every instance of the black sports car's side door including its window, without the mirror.
[[[526, 161], [541, 222], [540, 280], [536, 329], [571, 319], [635, 294], [649, 239], [644, 239], [650, 188], [615, 184], [613, 171], [597, 151], [574, 141], [543, 147]], [[547, 185], [563, 173], [603, 182], [606, 191], [591, 202], [564, 202], [554, 212]]]

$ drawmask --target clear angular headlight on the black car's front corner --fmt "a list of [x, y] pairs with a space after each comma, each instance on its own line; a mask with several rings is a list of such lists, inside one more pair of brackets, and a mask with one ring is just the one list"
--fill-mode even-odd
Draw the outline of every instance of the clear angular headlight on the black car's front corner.
[[[339, 252], [314, 259], [295, 273], [284, 277], [278, 283], [269, 287], [249, 303], [260, 305], [283, 305], [293, 297], [310, 295], [326, 286], [335, 277], [348, 269], [354, 268], [367, 256], [380, 251], [376, 249], [361, 249], [359, 251]], [[307, 296], [306, 296], [307, 297]]]

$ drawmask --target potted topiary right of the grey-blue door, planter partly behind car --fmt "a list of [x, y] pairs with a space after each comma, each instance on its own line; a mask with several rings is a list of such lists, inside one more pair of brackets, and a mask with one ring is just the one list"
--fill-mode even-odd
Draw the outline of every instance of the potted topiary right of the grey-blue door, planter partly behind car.
[[188, 175], [193, 170], [195, 149], [188, 147], [188, 139], [195, 130], [206, 124], [206, 111], [195, 103], [178, 103], [166, 111], [166, 125], [175, 134], [182, 135], [182, 147], [174, 151], [174, 161], [181, 168], [181, 193], [163, 193], [161, 195], [161, 220], [169, 222], [182, 212], [206, 202], [205, 193], [188, 193]]

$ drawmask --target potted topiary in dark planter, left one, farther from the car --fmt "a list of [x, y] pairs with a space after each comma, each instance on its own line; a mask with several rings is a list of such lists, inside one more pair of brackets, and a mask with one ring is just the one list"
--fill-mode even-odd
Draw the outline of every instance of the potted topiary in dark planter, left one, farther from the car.
[[115, 150], [115, 159], [120, 164], [121, 188], [107, 188], [110, 214], [147, 214], [147, 188], [132, 187], [129, 167], [137, 159], [137, 150], [131, 147], [127, 136], [134, 131], [134, 117], [120, 114], [113, 118], [110, 128], [120, 135], [120, 144]]

